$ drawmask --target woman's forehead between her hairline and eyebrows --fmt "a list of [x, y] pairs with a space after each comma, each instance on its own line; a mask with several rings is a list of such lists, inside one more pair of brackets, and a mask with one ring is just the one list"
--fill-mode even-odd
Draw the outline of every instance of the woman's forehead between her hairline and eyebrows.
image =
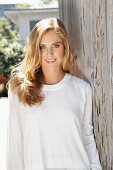
[[48, 42], [55, 42], [55, 41], [61, 41], [62, 39], [54, 30], [49, 30], [45, 32], [41, 38], [40, 43], [48, 43]]

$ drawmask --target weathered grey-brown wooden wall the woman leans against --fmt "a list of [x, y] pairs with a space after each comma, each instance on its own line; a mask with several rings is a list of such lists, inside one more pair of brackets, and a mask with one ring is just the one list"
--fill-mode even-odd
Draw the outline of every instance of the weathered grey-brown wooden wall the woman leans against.
[[79, 76], [93, 88], [95, 139], [103, 170], [113, 170], [113, 1], [59, 0]]

